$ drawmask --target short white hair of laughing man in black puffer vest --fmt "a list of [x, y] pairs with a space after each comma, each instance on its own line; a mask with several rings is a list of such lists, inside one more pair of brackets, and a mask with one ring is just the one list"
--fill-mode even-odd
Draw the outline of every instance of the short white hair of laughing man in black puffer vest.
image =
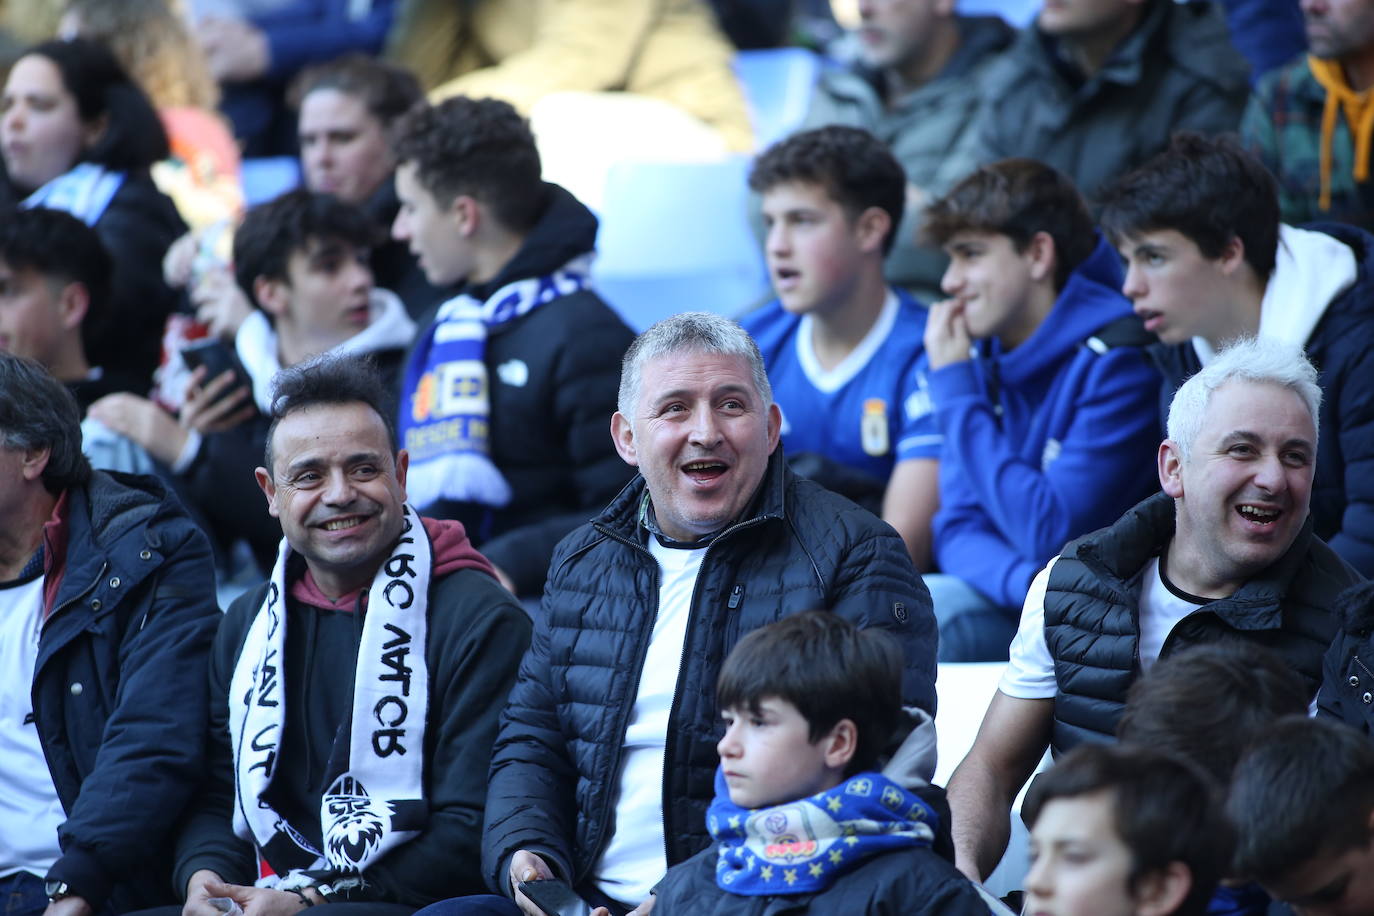
[[1184, 382], [1173, 396], [1168, 431], [1183, 460], [1189, 459], [1193, 441], [1202, 428], [1212, 393], [1232, 380], [1263, 382], [1293, 391], [1307, 407], [1312, 416], [1312, 431], [1316, 431], [1322, 389], [1316, 383], [1316, 369], [1303, 354], [1303, 347], [1279, 341], [1239, 338], [1227, 343], [1212, 363]]

